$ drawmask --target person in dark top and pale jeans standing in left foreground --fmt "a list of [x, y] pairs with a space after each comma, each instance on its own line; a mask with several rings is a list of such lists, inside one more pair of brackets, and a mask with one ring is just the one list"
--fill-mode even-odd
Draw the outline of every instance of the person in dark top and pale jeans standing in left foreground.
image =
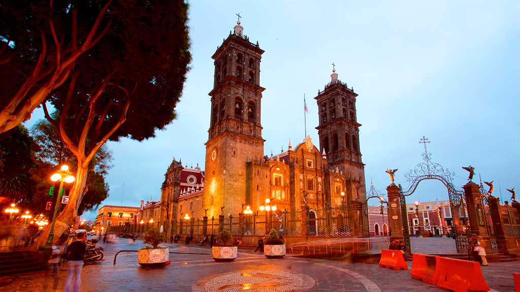
[[81, 291], [81, 270], [83, 269], [83, 256], [85, 254], [87, 237], [85, 233], [76, 236], [76, 241], [68, 247], [67, 278], [65, 280], [65, 292], [70, 292], [72, 276], [74, 276], [74, 292]]

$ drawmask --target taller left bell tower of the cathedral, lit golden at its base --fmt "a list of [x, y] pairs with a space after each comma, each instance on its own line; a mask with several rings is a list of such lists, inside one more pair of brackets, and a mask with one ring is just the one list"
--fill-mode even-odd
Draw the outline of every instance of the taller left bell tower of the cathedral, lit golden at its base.
[[243, 34], [233, 33], [217, 47], [211, 96], [211, 123], [206, 145], [204, 209], [207, 216], [238, 214], [245, 202], [246, 162], [264, 155], [260, 61], [264, 50]]

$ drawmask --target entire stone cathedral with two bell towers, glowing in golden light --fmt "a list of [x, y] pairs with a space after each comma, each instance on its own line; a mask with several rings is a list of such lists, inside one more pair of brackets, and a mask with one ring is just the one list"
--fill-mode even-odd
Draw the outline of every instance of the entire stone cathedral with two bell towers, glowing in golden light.
[[[161, 188], [161, 225], [183, 218], [237, 216], [246, 206], [257, 211], [266, 198], [276, 212], [302, 206], [320, 210], [365, 201], [365, 168], [359, 149], [357, 94], [338, 79], [315, 97], [319, 148], [306, 137], [287, 151], [267, 156], [262, 138], [262, 50], [237, 22], [212, 58], [215, 71], [205, 167], [173, 159]], [[172, 225], [171, 225], [172, 224]]]

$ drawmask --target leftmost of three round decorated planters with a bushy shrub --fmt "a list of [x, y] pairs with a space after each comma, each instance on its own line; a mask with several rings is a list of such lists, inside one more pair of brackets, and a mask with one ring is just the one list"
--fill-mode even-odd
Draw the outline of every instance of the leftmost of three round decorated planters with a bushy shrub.
[[168, 256], [170, 250], [167, 247], [160, 247], [166, 239], [163, 232], [159, 229], [153, 228], [145, 233], [144, 243], [149, 243], [151, 246], [139, 249], [138, 261], [142, 267], [163, 267], [170, 263]]

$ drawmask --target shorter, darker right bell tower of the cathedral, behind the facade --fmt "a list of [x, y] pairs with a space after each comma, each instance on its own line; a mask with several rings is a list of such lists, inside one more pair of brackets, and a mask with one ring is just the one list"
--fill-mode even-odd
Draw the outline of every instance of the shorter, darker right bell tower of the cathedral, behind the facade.
[[[334, 67], [334, 63], [332, 64]], [[350, 200], [358, 195], [366, 198], [365, 164], [361, 161], [359, 127], [356, 116], [356, 97], [353, 88], [337, 78], [335, 68], [331, 81], [315, 97], [318, 103], [320, 151], [327, 154], [331, 169], [343, 172]]]

